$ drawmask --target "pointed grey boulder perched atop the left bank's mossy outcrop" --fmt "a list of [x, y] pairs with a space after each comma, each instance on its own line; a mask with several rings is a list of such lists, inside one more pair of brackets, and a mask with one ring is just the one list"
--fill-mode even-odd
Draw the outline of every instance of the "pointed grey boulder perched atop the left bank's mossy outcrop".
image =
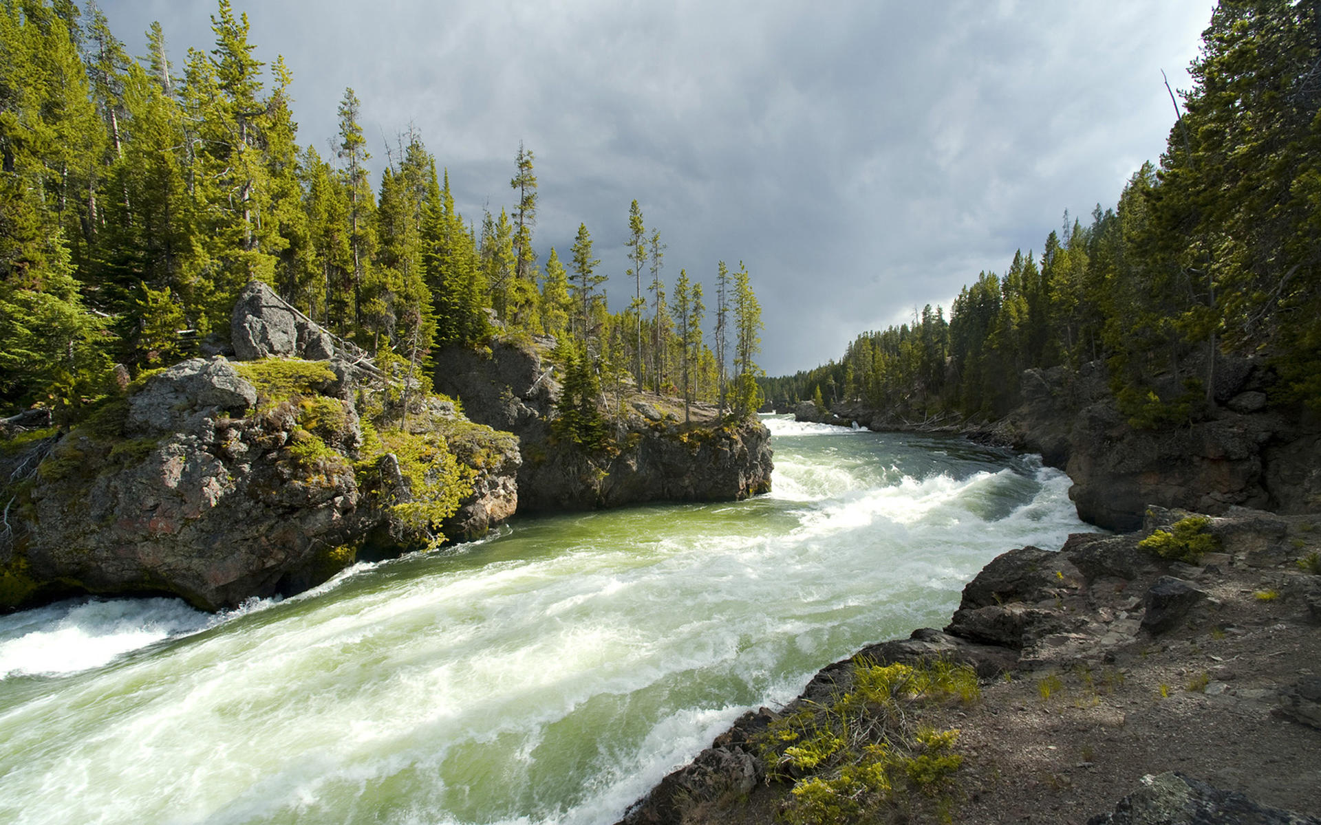
[[230, 338], [239, 360], [271, 355], [328, 360], [336, 339], [262, 281], [239, 292], [230, 317]]

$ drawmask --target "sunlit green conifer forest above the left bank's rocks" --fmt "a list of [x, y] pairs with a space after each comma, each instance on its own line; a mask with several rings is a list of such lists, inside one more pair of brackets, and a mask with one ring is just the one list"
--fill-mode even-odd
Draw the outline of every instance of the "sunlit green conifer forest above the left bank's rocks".
[[0, 413], [77, 421], [116, 392], [116, 364], [136, 376], [217, 351], [251, 280], [386, 368], [553, 335], [576, 438], [602, 385], [757, 408], [761, 309], [742, 264], [719, 263], [713, 294], [683, 269], [668, 286], [634, 201], [630, 301], [612, 313], [587, 226], [538, 260], [532, 150], [514, 154], [513, 207], [480, 222], [413, 129], [384, 147], [374, 186], [351, 88], [322, 157], [299, 145], [291, 70], [256, 59], [247, 16], [219, 0], [211, 28], [214, 48], [176, 67], [159, 24], [135, 59], [95, 3], [0, 0]]

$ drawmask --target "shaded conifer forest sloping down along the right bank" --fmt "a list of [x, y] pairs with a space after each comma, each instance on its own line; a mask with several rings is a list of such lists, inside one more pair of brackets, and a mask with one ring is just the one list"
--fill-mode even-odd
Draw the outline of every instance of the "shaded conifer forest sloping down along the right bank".
[[[950, 308], [761, 379], [769, 400], [993, 420], [1032, 367], [1102, 360], [1140, 428], [1214, 405], [1219, 358], [1256, 356], [1269, 400], [1321, 409], [1321, 3], [1221, 0], [1160, 164], [1114, 209], [982, 272]], [[1213, 356], [1218, 354], [1217, 356]]]

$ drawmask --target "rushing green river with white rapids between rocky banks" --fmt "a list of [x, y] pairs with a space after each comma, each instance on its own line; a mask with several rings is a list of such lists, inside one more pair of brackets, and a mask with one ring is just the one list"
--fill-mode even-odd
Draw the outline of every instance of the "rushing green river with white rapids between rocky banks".
[[748, 708], [1086, 529], [1030, 457], [768, 425], [749, 502], [519, 517], [219, 616], [0, 616], [0, 822], [613, 822]]

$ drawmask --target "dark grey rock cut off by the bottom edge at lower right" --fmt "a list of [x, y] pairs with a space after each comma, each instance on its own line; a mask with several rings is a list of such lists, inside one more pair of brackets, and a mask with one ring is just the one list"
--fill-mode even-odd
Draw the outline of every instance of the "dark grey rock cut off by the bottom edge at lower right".
[[1321, 820], [1268, 808], [1172, 771], [1143, 776], [1140, 789], [1087, 825], [1321, 825]]

